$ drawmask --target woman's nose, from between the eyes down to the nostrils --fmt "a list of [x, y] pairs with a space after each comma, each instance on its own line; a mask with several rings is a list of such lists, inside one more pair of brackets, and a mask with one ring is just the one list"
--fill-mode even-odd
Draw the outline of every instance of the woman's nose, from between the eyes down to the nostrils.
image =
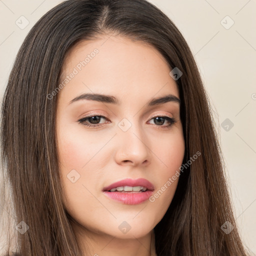
[[117, 131], [117, 147], [115, 161], [121, 165], [148, 165], [151, 162], [150, 140], [139, 128], [139, 125], [132, 124], [123, 131]]

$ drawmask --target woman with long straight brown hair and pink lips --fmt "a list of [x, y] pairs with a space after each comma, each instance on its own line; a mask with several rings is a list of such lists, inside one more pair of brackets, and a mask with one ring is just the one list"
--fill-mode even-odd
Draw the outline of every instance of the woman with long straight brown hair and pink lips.
[[195, 61], [145, 0], [68, 0], [33, 26], [1, 150], [19, 255], [247, 255]]

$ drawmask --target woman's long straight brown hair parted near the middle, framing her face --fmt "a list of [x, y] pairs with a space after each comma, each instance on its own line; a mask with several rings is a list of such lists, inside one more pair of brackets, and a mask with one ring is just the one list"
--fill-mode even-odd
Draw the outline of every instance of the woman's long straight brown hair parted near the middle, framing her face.
[[[181, 70], [176, 84], [185, 139], [183, 163], [201, 152], [181, 173], [172, 202], [154, 228], [157, 255], [247, 255], [193, 55], [174, 23], [146, 0], [64, 1], [37, 21], [21, 45], [1, 109], [2, 211], [8, 211], [16, 225], [24, 221], [29, 229], [21, 234], [9, 226], [6, 255], [14, 231], [22, 256], [82, 255], [62, 204], [55, 130], [58, 95], [49, 100], [47, 94], [59, 84], [68, 50], [80, 40], [109, 32], [150, 44], [170, 67]], [[7, 203], [5, 185], [11, 191], [12, 206]], [[228, 234], [221, 229], [225, 221], [234, 226]]]

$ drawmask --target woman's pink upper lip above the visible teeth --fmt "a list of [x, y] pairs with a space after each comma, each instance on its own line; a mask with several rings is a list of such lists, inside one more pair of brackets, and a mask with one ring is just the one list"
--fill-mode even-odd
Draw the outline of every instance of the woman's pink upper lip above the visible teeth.
[[147, 190], [154, 190], [153, 184], [145, 178], [138, 178], [138, 179], [125, 178], [104, 187], [103, 191], [108, 191], [118, 186], [143, 186], [143, 187], [146, 187]]

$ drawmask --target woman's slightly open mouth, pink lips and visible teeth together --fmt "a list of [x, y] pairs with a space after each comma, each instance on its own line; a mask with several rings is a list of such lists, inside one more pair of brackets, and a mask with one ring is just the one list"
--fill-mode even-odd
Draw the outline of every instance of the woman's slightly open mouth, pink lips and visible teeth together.
[[124, 204], [139, 204], [152, 195], [154, 186], [144, 178], [123, 179], [103, 188], [104, 194]]

